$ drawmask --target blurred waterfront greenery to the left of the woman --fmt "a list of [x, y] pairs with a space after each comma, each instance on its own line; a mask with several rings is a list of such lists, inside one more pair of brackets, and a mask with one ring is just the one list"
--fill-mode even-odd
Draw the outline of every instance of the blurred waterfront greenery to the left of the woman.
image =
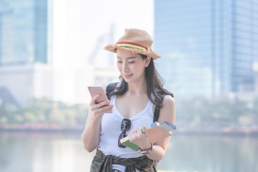
[[43, 124], [57, 126], [85, 125], [88, 115], [86, 105], [66, 105], [52, 100], [32, 99], [25, 108], [0, 106], [0, 124]]

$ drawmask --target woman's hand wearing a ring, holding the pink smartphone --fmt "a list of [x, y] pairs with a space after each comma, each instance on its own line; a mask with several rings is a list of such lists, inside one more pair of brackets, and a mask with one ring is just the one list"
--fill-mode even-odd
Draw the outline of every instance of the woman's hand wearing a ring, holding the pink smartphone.
[[113, 106], [110, 104], [110, 101], [104, 101], [104, 102], [100, 102], [98, 104], [96, 104], [96, 100], [99, 97], [99, 94], [97, 94], [96, 96], [94, 96], [91, 99], [90, 102], [90, 111], [93, 115], [97, 116], [102, 116], [105, 113], [112, 113], [113, 111]]

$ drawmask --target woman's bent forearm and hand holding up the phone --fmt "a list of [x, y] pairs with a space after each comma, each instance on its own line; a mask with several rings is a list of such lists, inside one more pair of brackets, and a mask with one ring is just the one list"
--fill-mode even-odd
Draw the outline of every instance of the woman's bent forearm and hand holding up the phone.
[[81, 135], [83, 146], [88, 152], [92, 152], [98, 146], [102, 116], [105, 113], [112, 113], [113, 109], [109, 100], [96, 104], [98, 96], [96, 95], [91, 100], [86, 126]]

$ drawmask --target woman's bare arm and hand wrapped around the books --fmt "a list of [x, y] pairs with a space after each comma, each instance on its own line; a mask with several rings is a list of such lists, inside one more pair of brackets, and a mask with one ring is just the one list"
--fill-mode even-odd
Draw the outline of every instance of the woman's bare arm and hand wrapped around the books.
[[[166, 95], [163, 100], [163, 107], [160, 111], [158, 122], [168, 121], [172, 124], [175, 123], [175, 101], [170, 95]], [[151, 143], [149, 143], [149, 132], [146, 127], [143, 127], [145, 134], [141, 133], [140, 127], [136, 127], [137, 134], [129, 133], [130, 141], [137, 144], [142, 150], [150, 149]], [[140, 134], [139, 134], [140, 133]], [[170, 137], [154, 143], [152, 147], [152, 153], [146, 156], [152, 160], [159, 161], [165, 155], [167, 146], [169, 144]]]

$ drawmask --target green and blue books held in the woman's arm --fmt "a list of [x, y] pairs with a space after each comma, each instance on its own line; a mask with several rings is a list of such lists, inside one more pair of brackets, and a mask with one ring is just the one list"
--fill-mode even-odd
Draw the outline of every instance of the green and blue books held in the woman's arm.
[[[161, 139], [171, 136], [172, 130], [176, 130], [176, 126], [167, 121], [164, 121], [162, 123], [154, 122], [150, 126], [147, 126], [147, 129], [150, 132], [149, 142], [155, 143], [155, 142], [160, 141]], [[141, 131], [142, 131], [142, 133], [144, 133], [143, 129], [141, 129]], [[129, 141], [129, 136], [121, 139], [120, 142], [123, 145], [130, 147], [131, 149], [133, 149], [135, 151], [138, 151], [140, 149], [140, 147], [138, 145], [131, 143]]]

